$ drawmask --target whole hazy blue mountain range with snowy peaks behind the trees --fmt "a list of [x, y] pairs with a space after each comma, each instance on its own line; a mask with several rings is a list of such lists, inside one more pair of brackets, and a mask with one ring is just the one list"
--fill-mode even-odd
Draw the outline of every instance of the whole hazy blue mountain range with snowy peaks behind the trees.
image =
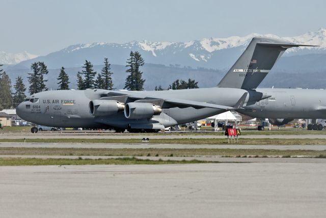
[[[56, 78], [60, 68], [64, 66], [71, 81], [70, 88], [75, 89], [76, 73], [82, 69], [85, 60], [91, 61], [94, 70], [100, 72], [103, 67], [103, 58], [107, 57], [112, 64], [115, 88], [123, 89], [127, 76], [126, 60], [129, 58], [130, 50], [137, 50], [141, 52], [146, 63], [141, 69], [146, 79], [145, 90], [152, 90], [159, 85], [167, 88], [178, 78], [195, 79], [199, 81], [199, 87], [203, 88], [218, 84], [255, 36], [280, 38], [270, 34], [250, 34], [244, 37], [204, 38], [189, 42], [149, 42], [146, 40], [125, 44], [97, 42], [71, 45], [39, 57], [28, 52], [22, 52], [17, 56], [0, 52], [0, 63], [9, 64], [2, 68], [7, 71], [12, 82], [20, 75], [28, 86], [26, 76], [31, 71], [31, 64], [44, 61], [49, 69], [46, 78], [49, 89], [58, 88]], [[316, 32], [282, 39], [300, 44], [319, 45], [319, 47], [288, 49], [260, 87], [325, 88], [326, 30], [321, 28]], [[300, 75], [293, 73], [300, 73]]]

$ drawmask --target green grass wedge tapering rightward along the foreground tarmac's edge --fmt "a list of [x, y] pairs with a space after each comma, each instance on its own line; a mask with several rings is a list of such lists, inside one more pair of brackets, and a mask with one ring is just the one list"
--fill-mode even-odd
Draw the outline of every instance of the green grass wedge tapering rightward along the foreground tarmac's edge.
[[0, 158], [0, 166], [38, 166], [38, 165], [157, 165], [176, 163], [218, 163], [202, 160], [149, 160], [134, 157], [115, 159], [41, 159], [41, 158]]

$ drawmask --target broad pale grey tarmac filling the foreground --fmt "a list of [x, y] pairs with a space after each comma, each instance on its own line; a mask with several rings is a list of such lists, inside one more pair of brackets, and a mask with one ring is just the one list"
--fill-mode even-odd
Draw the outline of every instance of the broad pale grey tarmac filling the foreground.
[[324, 217], [325, 163], [0, 167], [1, 217]]

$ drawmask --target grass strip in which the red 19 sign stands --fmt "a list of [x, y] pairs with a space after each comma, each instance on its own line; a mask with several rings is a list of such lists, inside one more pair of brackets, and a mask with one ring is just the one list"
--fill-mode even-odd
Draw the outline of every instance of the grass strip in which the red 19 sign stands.
[[[0, 139], [0, 142], [24, 142], [24, 139]], [[26, 139], [27, 143], [124, 143], [140, 144], [140, 139]], [[225, 139], [150, 139], [151, 144], [225, 145]], [[326, 145], [320, 139], [239, 139], [239, 145]]]

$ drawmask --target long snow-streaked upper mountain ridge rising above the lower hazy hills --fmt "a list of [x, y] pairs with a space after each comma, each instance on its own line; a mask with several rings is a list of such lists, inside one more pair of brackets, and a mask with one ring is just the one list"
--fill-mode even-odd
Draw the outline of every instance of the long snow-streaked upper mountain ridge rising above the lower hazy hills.
[[[291, 48], [285, 56], [309, 55], [311, 53], [326, 54], [326, 30], [321, 28], [317, 32], [309, 32], [295, 37], [253, 33], [244, 37], [204, 38], [188, 42], [150, 42], [143, 40], [125, 44], [106, 42], [76, 44], [49, 53], [47, 56], [21, 62], [19, 65], [29, 67], [34, 61], [44, 61], [49, 68], [80, 67], [85, 63], [85, 60], [91, 61], [93, 65], [101, 65], [104, 57], [107, 57], [112, 64], [125, 65], [130, 50], [137, 50], [141, 52], [145, 63], [227, 69], [236, 61], [255, 36], [282, 38], [295, 43], [319, 45], [319, 47]], [[308, 63], [314, 64], [315, 59], [308, 57], [306, 60]], [[318, 62], [314, 66], [318, 64], [320, 63]]]

